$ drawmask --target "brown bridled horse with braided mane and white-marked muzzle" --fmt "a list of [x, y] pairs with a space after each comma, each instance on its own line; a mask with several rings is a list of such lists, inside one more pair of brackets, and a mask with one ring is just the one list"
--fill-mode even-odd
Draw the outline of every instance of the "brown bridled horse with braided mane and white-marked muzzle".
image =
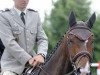
[[95, 13], [86, 21], [76, 21], [74, 12], [69, 16], [69, 30], [57, 44], [45, 64], [35, 69], [28, 67], [22, 75], [91, 75]]

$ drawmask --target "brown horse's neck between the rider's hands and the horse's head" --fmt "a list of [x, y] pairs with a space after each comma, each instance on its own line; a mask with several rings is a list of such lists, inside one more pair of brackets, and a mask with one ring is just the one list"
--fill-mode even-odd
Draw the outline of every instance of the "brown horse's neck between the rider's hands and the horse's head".
[[66, 41], [62, 41], [51, 59], [45, 64], [44, 70], [49, 75], [61, 75], [64, 73], [64, 68], [67, 60]]

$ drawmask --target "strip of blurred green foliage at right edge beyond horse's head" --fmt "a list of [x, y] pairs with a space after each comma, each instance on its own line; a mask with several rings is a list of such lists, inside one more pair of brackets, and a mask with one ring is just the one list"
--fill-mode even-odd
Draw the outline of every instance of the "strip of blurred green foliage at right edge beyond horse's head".
[[95, 62], [100, 61], [100, 15], [97, 16], [95, 25], [93, 27], [94, 32], [94, 56]]

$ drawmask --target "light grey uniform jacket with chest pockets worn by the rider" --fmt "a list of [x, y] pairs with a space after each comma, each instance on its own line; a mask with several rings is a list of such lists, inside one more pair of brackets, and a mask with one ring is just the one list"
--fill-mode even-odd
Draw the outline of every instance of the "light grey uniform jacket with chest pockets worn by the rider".
[[[48, 39], [42, 28], [38, 12], [27, 9], [25, 25], [16, 9], [0, 13], [0, 38], [5, 46], [1, 58], [2, 71], [21, 74], [26, 62], [37, 53], [47, 54]], [[37, 40], [37, 41], [36, 41]]]

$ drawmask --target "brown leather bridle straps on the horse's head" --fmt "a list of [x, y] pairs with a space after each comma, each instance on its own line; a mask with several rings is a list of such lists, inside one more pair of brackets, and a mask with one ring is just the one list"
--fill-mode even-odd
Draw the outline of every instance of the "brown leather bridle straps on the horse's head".
[[[89, 28], [81, 26], [81, 27], [73, 27], [73, 28], [71, 28], [71, 29], [68, 31], [68, 34], [69, 34], [72, 30], [74, 30], [74, 29], [86, 29], [86, 30], [89, 30], [89, 31], [91, 32], [91, 30], [90, 30]], [[69, 34], [69, 35], [70, 35], [70, 34]], [[73, 33], [73, 35], [75, 35], [75, 34]], [[76, 35], [75, 35], [75, 36], [76, 36]], [[70, 47], [70, 44], [69, 44], [69, 43], [70, 43], [70, 40], [69, 40], [69, 37], [67, 37], [68, 54], [69, 54], [69, 58], [70, 58], [70, 62], [71, 62], [71, 64], [72, 64], [73, 70], [72, 70], [71, 72], [65, 74], [65, 75], [71, 75], [71, 74], [77, 75], [77, 73], [80, 72], [80, 70], [79, 70], [80, 68], [78, 68], [77, 65], [78, 65], [79, 61], [81, 60], [81, 58], [86, 57], [87, 59], [89, 59], [89, 62], [92, 62], [92, 55], [91, 55], [88, 51], [81, 51], [81, 52], [78, 52], [78, 53], [72, 58], [72, 57], [71, 57], [71, 53], [70, 53], [70, 51], [69, 51], [69, 47]], [[76, 62], [76, 60], [77, 60], [78, 58], [79, 58], [78, 63], [75, 64], [75, 62]]]

